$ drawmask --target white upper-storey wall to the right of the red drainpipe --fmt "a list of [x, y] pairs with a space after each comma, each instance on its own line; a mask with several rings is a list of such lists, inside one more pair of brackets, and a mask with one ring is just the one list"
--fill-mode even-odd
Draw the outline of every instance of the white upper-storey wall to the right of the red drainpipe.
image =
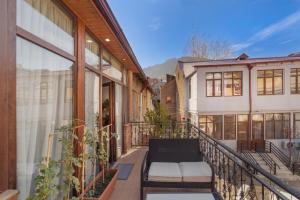
[[[257, 65], [252, 69], [252, 110], [253, 112], [280, 112], [300, 110], [300, 94], [291, 94], [290, 70], [299, 68], [300, 62], [285, 64]], [[257, 70], [283, 69], [283, 95], [257, 95]]]

